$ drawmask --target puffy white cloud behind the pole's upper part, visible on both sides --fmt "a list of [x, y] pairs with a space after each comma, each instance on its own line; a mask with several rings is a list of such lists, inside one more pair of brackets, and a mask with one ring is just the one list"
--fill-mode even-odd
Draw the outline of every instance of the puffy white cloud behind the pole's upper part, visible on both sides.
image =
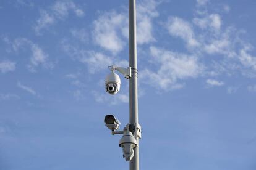
[[[148, 0], [137, 4], [137, 44], [155, 42], [153, 19], [158, 17], [156, 7], [160, 1]], [[129, 38], [126, 12], [105, 12], [93, 22], [92, 38], [95, 43], [113, 54], [124, 49]], [[126, 38], [126, 39], [124, 39]]]

